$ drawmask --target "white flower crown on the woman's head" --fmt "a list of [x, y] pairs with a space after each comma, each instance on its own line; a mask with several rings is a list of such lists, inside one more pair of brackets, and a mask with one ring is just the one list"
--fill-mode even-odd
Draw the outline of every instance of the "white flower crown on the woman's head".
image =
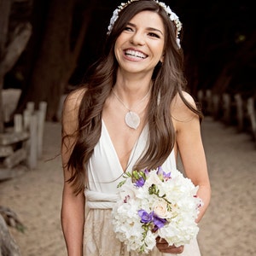
[[[112, 31], [113, 25], [114, 25], [115, 21], [119, 18], [119, 12], [122, 9], [125, 9], [125, 7], [127, 5], [129, 5], [130, 3], [135, 2], [135, 1], [139, 1], [139, 0], [129, 0], [127, 3], [121, 3], [119, 5], [119, 7], [113, 11], [113, 15], [112, 15], [112, 17], [110, 19], [110, 23], [109, 23], [109, 26], [108, 26], [108, 35]], [[160, 7], [162, 7], [166, 11], [166, 15], [169, 16], [170, 20], [172, 20], [174, 22], [174, 24], [175, 24], [175, 26], [177, 28], [177, 38], [176, 38], [176, 41], [177, 41], [178, 47], [180, 48], [180, 39], [178, 38], [178, 36], [179, 36], [179, 33], [180, 33], [181, 29], [182, 29], [182, 23], [178, 19], [178, 16], [174, 12], [172, 12], [172, 9], [169, 6], [166, 6], [166, 3], [159, 2], [158, 0], [154, 0], [154, 2], [158, 3], [160, 5]]]

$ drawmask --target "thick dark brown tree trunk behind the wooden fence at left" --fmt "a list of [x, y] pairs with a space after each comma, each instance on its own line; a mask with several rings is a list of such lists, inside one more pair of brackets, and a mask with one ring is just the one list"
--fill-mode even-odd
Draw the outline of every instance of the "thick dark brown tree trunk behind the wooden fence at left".
[[26, 108], [26, 102], [47, 102], [46, 119], [55, 120], [61, 95], [68, 84], [84, 42], [84, 34], [90, 20], [90, 13], [83, 15], [79, 36], [72, 48], [74, 0], [53, 0], [50, 2], [46, 28], [38, 58], [32, 70], [32, 77], [22, 90], [17, 112]]

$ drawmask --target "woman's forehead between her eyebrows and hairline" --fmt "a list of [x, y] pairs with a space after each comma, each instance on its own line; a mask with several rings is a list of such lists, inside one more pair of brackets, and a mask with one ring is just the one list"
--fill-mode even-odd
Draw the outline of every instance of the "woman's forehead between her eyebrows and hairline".
[[136, 26], [145, 26], [145, 27], [153, 27], [164, 32], [164, 23], [161, 19], [160, 15], [153, 11], [143, 11], [134, 15], [131, 20], [131, 23]]

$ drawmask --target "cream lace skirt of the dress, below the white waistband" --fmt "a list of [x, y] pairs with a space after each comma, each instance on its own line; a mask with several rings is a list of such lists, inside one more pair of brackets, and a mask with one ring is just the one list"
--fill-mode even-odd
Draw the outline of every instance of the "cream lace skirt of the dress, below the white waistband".
[[185, 245], [181, 254], [160, 253], [155, 247], [148, 254], [127, 252], [113, 232], [111, 209], [90, 209], [84, 224], [84, 256], [201, 256], [197, 241]]

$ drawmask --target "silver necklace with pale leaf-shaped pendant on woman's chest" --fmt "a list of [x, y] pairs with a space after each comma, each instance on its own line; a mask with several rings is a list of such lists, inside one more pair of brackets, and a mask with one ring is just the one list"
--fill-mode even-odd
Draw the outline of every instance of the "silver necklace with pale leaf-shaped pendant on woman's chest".
[[[145, 101], [145, 99], [146, 99], [146, 98], [148, 97], [148, 95], [149, 95], [149, 92], [150, 92], [150, 90], [148, 90], [148, 93], [147, 93], [145, 96], [143, 96], [143, 99], [137, 103], [137, 106], [138, 106], [139, 104], [141, 104], [143, 101]], [[117, 94], [114, 92], [114, 90], [113, 90], [113, 95], [114, 95], [114, 96], [119, 100], [119, 102], [121, 102], [122, 105], [128, 110], [128, 112], [125, 113], [125, 124], [126, 124], [128, 127], [130, 127], [131, 129], [136, 130], [137, 127], [138, 127], [138, 126], [140, 125], [140, 123], [141, 123], [141, 119], [140, 119], [139, 115], [138, 115], [136, 112], [131, 111], [131, 108], [128, 108], [128, 107], [125, 105], [125, 103], [119, 98], [119, 96], [117, 96]], [[136, 106], [136, 107], [137, 107], [137, 106]]]

